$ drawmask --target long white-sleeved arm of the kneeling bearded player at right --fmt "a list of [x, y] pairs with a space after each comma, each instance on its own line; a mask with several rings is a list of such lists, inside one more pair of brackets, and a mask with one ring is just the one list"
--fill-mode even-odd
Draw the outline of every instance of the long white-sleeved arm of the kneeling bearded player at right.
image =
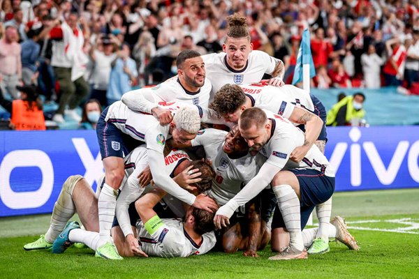
[[263, 164], [258, 174], [233, 199], [230, 199], [230, 201], [216, 211], [214, 218], [215, 226], [218, 229], [226, 227], [229, 223], [228, 219], [233, 215], [234, 211], [239, 206], [249, 202], [253, 197], [256, 197], [274, 179], [275, 174], [281, 169], [281, 167], [269, 162]]

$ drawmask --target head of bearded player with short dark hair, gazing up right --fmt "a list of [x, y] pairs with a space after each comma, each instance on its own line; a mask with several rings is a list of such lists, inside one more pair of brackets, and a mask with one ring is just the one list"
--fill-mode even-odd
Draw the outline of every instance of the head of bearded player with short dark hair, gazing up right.
[[205, 63], [200, 56], [186, 59], [178, 73], [189, 86], [202, 87], [205, 82]]

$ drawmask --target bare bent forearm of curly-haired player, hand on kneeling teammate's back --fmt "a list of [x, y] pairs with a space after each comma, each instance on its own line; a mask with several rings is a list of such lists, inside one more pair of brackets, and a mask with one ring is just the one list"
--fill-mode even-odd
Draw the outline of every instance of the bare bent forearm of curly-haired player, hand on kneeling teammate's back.
[[304, 144], [295, 147], [290, 156], [291, 160], [300, 162], [318, 139], [321, 128], [323, 128], [323, 120], [316, 114], [304, 110], [301, 107], [294, 107], [293, 113], [288, 119], [293, 123], [303, 124], [305, 126]]

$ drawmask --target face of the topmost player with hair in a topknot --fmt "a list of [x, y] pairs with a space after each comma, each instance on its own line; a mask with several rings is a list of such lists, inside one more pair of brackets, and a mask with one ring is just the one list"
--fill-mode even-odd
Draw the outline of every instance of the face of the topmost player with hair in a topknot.
[[246, 66], [253, 44], [244, 38], [227, 38], [223, 51], [227, 54], [228, 66], [235, 70], [242, 70]]

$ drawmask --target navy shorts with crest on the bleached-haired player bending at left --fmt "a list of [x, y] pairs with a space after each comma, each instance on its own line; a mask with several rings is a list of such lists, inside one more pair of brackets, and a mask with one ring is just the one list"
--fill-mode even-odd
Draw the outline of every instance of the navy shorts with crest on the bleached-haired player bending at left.
[[102, 160], [110, 156], [124, 158], [135, 147], [145, 144], [145, 142], [135, 140], [130, 135], [122, 133], [114, 124], [106, 122], [105, 117], [107, 113], [108, 107], [103, 110], [96, 126], [96, 135]]

